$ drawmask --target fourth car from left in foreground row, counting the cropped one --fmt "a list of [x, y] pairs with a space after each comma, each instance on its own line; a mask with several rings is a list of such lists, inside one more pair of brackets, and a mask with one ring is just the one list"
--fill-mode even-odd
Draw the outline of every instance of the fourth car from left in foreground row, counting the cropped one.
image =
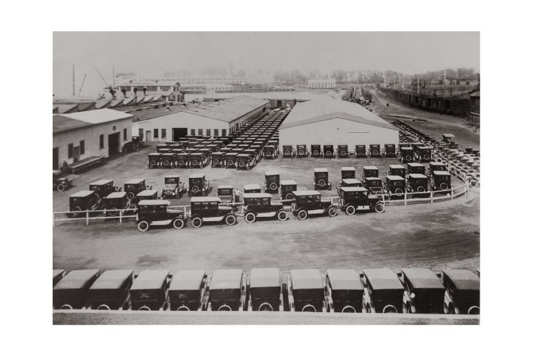
[[170, 270], [143, 270], [130, 288], [132, 310], [163, 310]]

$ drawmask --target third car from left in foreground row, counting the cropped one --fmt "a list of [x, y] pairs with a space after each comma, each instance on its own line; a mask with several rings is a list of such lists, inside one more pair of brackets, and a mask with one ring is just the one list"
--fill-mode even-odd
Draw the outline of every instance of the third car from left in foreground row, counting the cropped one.
[[118, 310], [127, 305], [133, 270], [106, 270], [89, 288], [91, 309]]

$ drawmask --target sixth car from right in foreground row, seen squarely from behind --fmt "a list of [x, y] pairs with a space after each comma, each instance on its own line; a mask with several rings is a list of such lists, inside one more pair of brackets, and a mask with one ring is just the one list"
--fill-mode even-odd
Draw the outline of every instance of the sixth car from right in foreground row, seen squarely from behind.
[[284, 310], [280, 269], [252, 268], [250, 270], [248, 309], [253, 312]]

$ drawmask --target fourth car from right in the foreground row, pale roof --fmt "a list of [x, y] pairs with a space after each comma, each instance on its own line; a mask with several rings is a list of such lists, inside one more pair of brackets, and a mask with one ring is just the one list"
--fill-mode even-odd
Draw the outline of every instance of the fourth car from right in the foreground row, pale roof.
[[330, 296], [330, 311], [361, 313], [364, 288], [355, 270], [326, 270], [326, 286]]

